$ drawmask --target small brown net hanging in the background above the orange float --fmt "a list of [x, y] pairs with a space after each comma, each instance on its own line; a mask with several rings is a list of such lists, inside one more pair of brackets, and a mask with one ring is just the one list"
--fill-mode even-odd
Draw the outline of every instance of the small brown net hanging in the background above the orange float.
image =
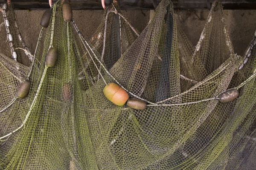
[[[99, 52], [100, 60], [105, 63], [106, 68], [110, 69], [138, 36], [139, 32], [131, 26], [114, 1], [111, 6], [105, 8], [102, 22], [91, 38], [90, 44], [94, 51]], [[95, 64], [99, 67], [99, 71]], [[105, 74], [99, 62], [91, 61], [88, 68], [87, 72], [93, 83], [99, 81], [99, 72]], [[82, 71], [81, 75], [84, 75]]]

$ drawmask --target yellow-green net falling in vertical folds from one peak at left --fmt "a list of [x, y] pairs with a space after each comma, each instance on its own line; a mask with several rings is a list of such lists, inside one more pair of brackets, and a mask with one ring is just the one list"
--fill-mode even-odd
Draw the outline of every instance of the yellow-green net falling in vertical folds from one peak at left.
[[[28, 96], [17, 99], [14, 93], [14, 102], [1, 108], [0, 169], [96, 169], [89, 131], [80, 132], [77, 126], [76, 115], [85, 113], [79, 81], [85, 50], [79, 48], [81, 41], [74, 40], [71, 26], [62, 17], [61, 3], [56, 3], [24, 76], [31, 82]], [[58, 51], [53, 67], [46, 63], [52, 48]]]

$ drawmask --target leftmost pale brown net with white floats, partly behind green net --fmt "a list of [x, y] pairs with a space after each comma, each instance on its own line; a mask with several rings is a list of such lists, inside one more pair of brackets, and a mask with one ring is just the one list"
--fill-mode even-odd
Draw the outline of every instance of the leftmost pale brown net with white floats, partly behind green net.
[[[25, 80], [26, 74], [29, 68], [19, 62], [29, 62], [29, 51], [18, 51], [15, 49], [22, 48], [25, 43], [22, 40], [18, 24], [15, 18], [15, 13], [12, 8], [12, 4], [5, 4], [2, 6], [3, 9], [3, 23], [0, 29], [1, 34], [7, 35], [7, 40], [1, 41], [1, 52], [0, 52], [0, 110], [4, 109], [9, 103], [12, 103], [13, 96], [15, 96], [19, 85]], [[5, 28], [6, 29], [5, 29]], [[17, 39], [19, 37], [19, 40]], [[26, 47], [24, 47], [26, 48]], [[27, 49], [27, 48], [26, 48]], [[16, 56], [14, 58], [14, 55]], [[29, 57], [28, 57], [29, 56]], [[6, 115], [0, 115], [1, 127], [0, 132], [5, 129], [6, 119], [12, 117], [11, 113]]]

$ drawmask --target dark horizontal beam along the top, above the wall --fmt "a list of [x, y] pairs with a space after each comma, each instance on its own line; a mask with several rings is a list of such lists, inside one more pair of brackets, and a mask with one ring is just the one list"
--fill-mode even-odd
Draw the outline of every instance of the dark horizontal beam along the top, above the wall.
[[[68, 1], [68, 0], [66, 0]], [[148, 10], [154, 9], [153, 0], [117, 0], [121, 9], [124, 10]], [[157, 0], [157, 4], [161, 0]], [[212, 4], [214, 0], [210, 0]], [[224, 9], [256, 9], [256, 0], [220, 0]], [[55, 3], [56, 0], [53, 0]], [[112, 0], [105, 0], [108, 6]], [[0, 0], [6, 3], [6, 0]], [[46, 9], [49, 8], [48, 0], [12, 0], [15, 9]], [[73, 9], [102, 10], [101, 0], [70, 0]], [[179, 9], [207, 9], [206, 0], [172, 0], [175, 8]]]

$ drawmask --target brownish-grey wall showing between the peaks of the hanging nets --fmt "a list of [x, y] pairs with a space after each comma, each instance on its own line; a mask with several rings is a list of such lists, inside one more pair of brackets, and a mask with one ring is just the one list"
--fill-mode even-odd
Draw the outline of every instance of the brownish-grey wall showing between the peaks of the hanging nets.
[[[15, 11], [17, 21], [26, 45], [32, 52], [35, 50], [41, 29], [40, 20], [44, 13], [43, 10], [17, 10]], [[123, 11], [131, 24], [138, 31], [143, 31], [154, 11]], [[185, 32], [186, 36], [196, 45], [201, 31], [207, 20], [208, 10], [175, 10], [175, 19], [177, 25]], [[256, 30], [256, 10], [224, 10], [228, 31], [233, 42], [234, 50], [237, 54], [243, 55], [247, 45], [253, 37]], [[96, 28], [99, 26], [103, 17], [103, 10], [74, 10], [73, 18], [77, 26], [89, 40]], [[0, 17], [0, 23], [3, 23], [3, 17]], [[0, 50], [1, 44], [6, 42], [6, 31], [4, 26], [0, 31]]]

